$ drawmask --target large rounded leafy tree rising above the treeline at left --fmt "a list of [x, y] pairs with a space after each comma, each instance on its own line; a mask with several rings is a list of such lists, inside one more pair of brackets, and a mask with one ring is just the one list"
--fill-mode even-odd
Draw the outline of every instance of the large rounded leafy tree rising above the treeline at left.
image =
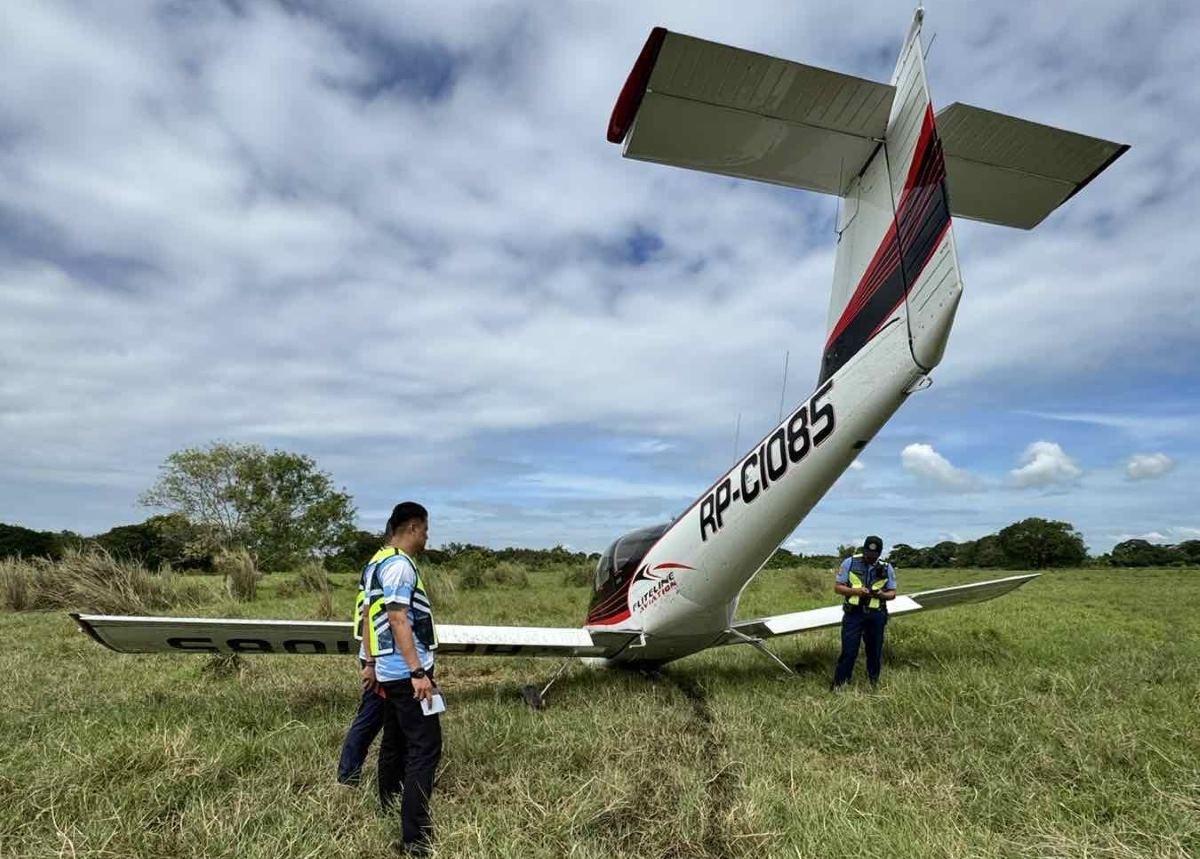
[[167, 457], [148, 506], [186, 516], [211, 549], [245, 547], [264, 569], [329, 554], [354, 527], [354, 504], [301, 453], [217, 441]]

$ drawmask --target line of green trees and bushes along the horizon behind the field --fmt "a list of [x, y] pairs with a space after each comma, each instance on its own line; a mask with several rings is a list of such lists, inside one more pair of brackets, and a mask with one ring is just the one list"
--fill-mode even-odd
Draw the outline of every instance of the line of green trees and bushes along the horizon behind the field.
[[[224, 553], [246, 552], [259, 570], [318, 564], [330, 571], [356, 571], [383, 543], [382, 534], [355, 527], [349, 493], [338, 489], [311, 457], [259, 445], [217, 441], [176, 451], [166, 458], [158, 480], [140, 501], [167, 512], [92, 536], [0, 524], [0, 558], [59, 560], [73, 551], [98, 547], [150, 570], [169, 565], [211, 571]], [[854, 551], [839, 546], [835, 554], [806, 555], [780, 548], [767, 566], [829, 567]], [[469, 543], [449, 543], [427, 554], [428, 563], [464, 569], [516, 564], [529, 570], [582, 570], [599, 557], [562, 546], [492, 549]], [[1127, 540], [1091, 558], [1069, 522], [1027, 518], [966, 542], [947, 540], [925, 548], [900, 542], [889, 557], [904, 567], [1180, 566], [1200, 564], [1200, 540], [1177, 546]]]

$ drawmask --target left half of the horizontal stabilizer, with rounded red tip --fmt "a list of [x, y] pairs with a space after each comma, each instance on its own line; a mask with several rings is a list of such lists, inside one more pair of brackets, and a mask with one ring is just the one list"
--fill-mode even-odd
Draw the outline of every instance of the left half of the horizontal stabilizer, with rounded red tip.
[[841, 196], [895, 89], [655, 29], [613, 109], [624, 155]]

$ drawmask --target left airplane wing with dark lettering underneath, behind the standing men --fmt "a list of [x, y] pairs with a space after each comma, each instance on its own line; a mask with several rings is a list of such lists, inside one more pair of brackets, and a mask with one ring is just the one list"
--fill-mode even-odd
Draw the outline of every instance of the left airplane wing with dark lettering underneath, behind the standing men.
[[[79, 629], [118, 653], [356, 654], [349, 621], [242, 620], [71, 614]], [[637, 636], [550, 626], [438, 624], [442, 655], [613, 656]]]

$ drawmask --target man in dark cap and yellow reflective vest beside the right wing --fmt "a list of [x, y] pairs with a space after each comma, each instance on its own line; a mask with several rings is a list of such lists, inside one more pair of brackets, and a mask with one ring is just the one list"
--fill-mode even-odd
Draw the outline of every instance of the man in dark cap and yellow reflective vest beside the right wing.
[[866, 639], [866, 677], [874, 686], [883, 667], [883, 629], [888, 623], [888, 602], [896, 595], [896, 571], [880, 560], [883, 541], [869, 536], [863, 551], [846, 558], [838, 570], [833, 589], [841, 594], [841, 655], [834, 671], [833, 686], [847, 683], [854, 673], [858, 645]]

